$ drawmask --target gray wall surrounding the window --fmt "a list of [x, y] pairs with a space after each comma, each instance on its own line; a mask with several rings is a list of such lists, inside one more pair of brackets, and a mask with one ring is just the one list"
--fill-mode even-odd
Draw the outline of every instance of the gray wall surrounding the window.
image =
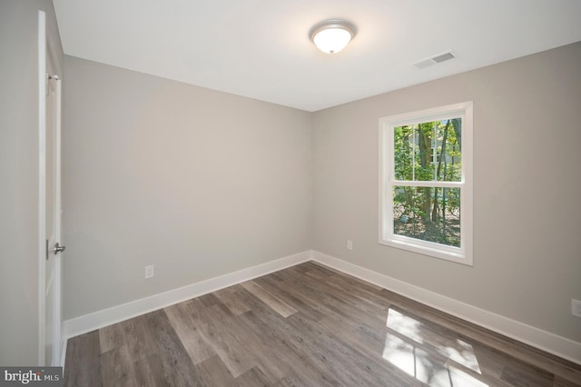
[[[315, 113], [314, 249], [581, 342], [579, 69], [576, 43]], [[379, 245], [379, 117], [463, 101], [474, 266]]]

